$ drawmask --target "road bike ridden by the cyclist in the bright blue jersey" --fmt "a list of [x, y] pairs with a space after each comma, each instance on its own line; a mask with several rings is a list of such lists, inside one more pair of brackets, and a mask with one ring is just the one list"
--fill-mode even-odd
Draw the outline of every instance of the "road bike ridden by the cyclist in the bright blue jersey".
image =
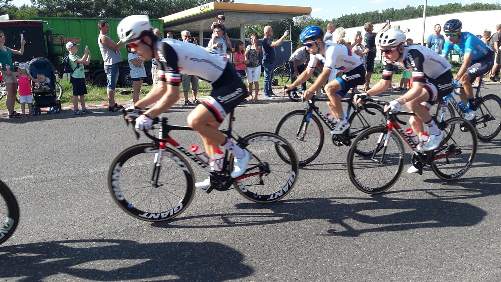
[[[480, 92], [482, 88], [486, 88], [484, 85], [483, 77], [480, 77], [480, 83], [473, 86], [473, 89], [476, 89], [475, 103], [477, 111], [475, 118], [470, 122], [476, 128], [478, 139], [490, 141], [501, 132], [501, 98], [494, 94], [488, 94], [483, 97]], [[458, 88], [461, 89], [463, 87]], [[454, 93], [459, 95], [456, 91]], [[435, 111], [432, 112], [435, 113]], [[455, 117], [456, 113], [458, 116], [464, 117], [466, 110], [459, 105], [452, 94], [445, 96], [436, 109], [437, 119], [441, 122], [445, 119]]]

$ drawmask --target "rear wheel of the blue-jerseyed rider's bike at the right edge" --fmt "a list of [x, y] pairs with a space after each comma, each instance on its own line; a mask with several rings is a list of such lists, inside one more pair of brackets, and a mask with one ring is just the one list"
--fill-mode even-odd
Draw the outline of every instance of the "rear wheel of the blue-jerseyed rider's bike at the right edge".
[[501, 131], [501, 98], [489, 94], [477, 101], [475, 128], [478, 139], [490, 141]]

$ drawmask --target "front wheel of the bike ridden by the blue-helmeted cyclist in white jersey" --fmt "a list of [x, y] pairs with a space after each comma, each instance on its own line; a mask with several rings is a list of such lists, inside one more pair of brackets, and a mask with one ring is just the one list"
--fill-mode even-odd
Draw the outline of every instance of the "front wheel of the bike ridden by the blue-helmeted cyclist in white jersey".
[[[320, 120], [314, 115], [307, 118], [307, 115], [304, 110], [292, 111], [279, 121], [275, 129], [275, 134], [287, 140], [296, 152], [299, 166], [312, 162], [324, 146], [324, 129]], [[282, 152], [277, 151], [279, 156]]]

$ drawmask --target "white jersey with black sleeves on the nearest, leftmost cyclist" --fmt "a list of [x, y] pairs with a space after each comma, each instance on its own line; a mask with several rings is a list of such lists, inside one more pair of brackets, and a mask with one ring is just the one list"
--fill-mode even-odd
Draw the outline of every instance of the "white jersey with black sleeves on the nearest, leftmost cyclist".
[[194, 75], [212, 84], [228, 63], [228, 58], [214, 49], [171, 38], [157, 41], [157, 53], [159, 80], [176, 86], [181, 82], [181, 74]]

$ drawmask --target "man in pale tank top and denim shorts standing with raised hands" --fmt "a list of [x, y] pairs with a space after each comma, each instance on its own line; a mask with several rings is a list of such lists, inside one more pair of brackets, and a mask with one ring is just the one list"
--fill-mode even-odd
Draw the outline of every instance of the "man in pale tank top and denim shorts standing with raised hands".
[[122, 62], [120, 48], [122, 48], [123, 42], [119, 41], [118, 43], [115, 43], [107, 36], [110, 32], [110, 25], [107, 21], [99, 21], [98, 27], [99, 37], [97, 41], [99, 50], [101, 50], [101, 55], [103, 56], [104, 72], [106, 73], [106, 80], [108, 82], [108, 86], [106, 88], [109, 102], [108, 111], [116, 112], [123, 108], [123, 106], [119, 106], [115, 103], [115, 87], [117, 86], [118, 75], [120, 72], [120, 66], [118, 64]]

